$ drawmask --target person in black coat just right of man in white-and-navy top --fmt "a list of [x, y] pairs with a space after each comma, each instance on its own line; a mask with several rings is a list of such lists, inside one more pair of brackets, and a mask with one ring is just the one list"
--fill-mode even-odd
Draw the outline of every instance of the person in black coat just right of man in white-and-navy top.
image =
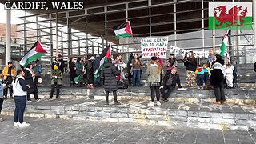
[[26, 85], [30, 85], [30, 88], [26, 91], [26, 97], [27, 97], [27, 101], [31, 102], [31, 98], [30, 98], [30, 94], [34, 95], [34, 99], [35, 100], [39, 100], [38, 98], [38, 87], [36, 85], [35, 82], [35, 75], [34, 74], [34, 70], [33, 70], [33, 65], [32, 64], [28, 64], [26, 66], [26, 69], [24, 70], [25, 73], [25, 82]]

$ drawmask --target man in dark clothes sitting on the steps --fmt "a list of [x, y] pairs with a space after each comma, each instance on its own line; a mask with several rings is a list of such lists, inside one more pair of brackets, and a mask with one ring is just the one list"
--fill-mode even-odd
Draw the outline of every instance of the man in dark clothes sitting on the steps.
[[177, 73], [176, 67], [172, 68], [171, 70], [167, 70], [162, 84], [163, 86], [160, 87], [162, 99], [164, 102], [168, 102], [170, 93], [175, 89], [176, 84], [178, 84], [178, 88], [182, 88], [181, 80], [179, 78], [179, 74]]

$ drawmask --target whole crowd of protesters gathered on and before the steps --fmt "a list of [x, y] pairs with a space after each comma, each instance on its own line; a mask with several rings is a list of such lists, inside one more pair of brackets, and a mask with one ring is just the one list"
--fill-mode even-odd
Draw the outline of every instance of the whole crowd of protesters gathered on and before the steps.
[[[96, 58], [95, 58], [96, 57]], [[109, 105], [109, 94], [113, 92], [114, 104], [120, 105], [117, 98], [118, 88], [127, 88], [126, 78], [129, 86], [141, 86], [142, 67], [147, 66], [146, 86], [150, 87], [151, 100], [149, 106], [160, 106], [160, 96], [162, 102], [168, 102], [168, 98], [175, 86], [182, 88], [180, 76], [178, 72], [178, 62], [174, 54], [170, 54], [165, 62], [158, 54], [150, 58], [150, 62], [146, 64], [142, 62], [141, 56], [131, 53], [128, 62], [124, 62], [122, 54], [118, 54], [116, 58], [111, 55], [111, 58], [106, 60], [104, 66], [101, 66], [100, 55], [86, 58], [70, 58], [68, 65], [63, 61], [62, 55], [58, 55], [52, 63], [50, 74], [50, 99], [54, 96], [56, 89], [56, 98], [60, 98], [60, 88], [63, 84], [63, 73], [66, 66], [70, 72], [70, 86], [86, 86], [88, 89], [104, 86], [106, 93], [106, 105]], [[186, 54], [181, 59], [186, 66], [186, 87], [198, 87], [198, 89], [210, 89], [212, 87], [216, 97], [214, 104], [225, 104], [226, 98], [224, 95], [224, 86], [233, 88], [234, 66], [230, 62], [224, 66], [224, 60], [219, 54], [215, 54], [214, 50], [210, 50], [208, 61], [202, 65], [198, 65], [193, 51]], [[254, 65], [254, 70], [255, 70]], [[95, 72], [101, 70], [101, 73]], [[166, 70], [166, 72], [164, 72]], [[9, 90], [10, 98], [14, 98], [14, 126], [29, 126], [23, 122], [23, 114], [26, 102], [31, 102], [30, 94], [34, 95], [36, 101], [38, 98], [38, 82], [41, 79], [42, 65], [35, 60], [26, 66], [19, 69], [17, 72], [14, 69], [13, 63], [8, 62], [8, 65], [0, 70], [0, 113], [2, 103], [7, 99]], [[15, 77], [16, 75], [16, 77]], [[0, 122], [3, 119], [0, 118]], [[23, 124], [22, 124], [23, 123]]]

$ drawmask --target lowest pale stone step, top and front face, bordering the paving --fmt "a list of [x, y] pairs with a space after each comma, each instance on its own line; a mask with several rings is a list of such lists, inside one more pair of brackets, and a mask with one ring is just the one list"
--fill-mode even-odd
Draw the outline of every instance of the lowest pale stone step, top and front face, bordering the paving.
[[[110, 102], [91, 99], [54, 99], [30, 102], [26, 116], [39, 118], [73, 118], [98, 122], [134, 122], [147, 125], [189, 126], [202, 129], [254, 130], [256, 109], [252, 105], [226, 104], [214, 106], [209, 102], [169, 102], [147, 106], [148, 101]], [[13, 115], [14, 101], [4, 102], [2, 114]]]

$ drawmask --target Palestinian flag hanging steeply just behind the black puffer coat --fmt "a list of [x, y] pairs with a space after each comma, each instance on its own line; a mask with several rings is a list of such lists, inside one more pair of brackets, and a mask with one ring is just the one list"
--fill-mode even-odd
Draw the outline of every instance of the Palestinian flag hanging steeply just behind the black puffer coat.
[[110, 58], [110, 55], [111, 55], [111, 46], [106, 46], [106, 48], [102, 51], [102, 54], [100, 54], [100, 62], [99, 62], [99, 67], [98, 69], [95, 71], [94, 73], [94, 77], [98, 77], [98, 74], [101, 73], [103, 67], [104, 67], [104, 64], [107, 60], [107, 58]]

